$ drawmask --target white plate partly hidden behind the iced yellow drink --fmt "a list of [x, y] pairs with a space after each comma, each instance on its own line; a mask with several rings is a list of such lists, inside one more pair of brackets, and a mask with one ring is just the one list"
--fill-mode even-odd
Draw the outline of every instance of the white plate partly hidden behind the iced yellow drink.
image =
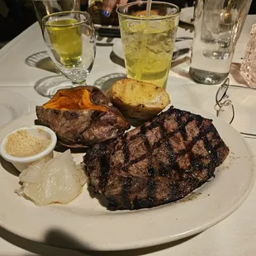
[[[182, 40], [175, 42], [174, 45], [174, 52], [180, 49], [189, 48], [191, 49], [192, 46], [192, 40]], [[116, 43], [113, 45], [113, 53], [119, 57], [120, 59], [124, 59], [124, 51], [123, 51], [123, 45], [120, 40], [116, 40]], [[185, 58], [188, 55], [188, 52], [184, 55], [180, 55], [178, 58], [173, 59], [172, 62], [178, 61], [180, 59]]]

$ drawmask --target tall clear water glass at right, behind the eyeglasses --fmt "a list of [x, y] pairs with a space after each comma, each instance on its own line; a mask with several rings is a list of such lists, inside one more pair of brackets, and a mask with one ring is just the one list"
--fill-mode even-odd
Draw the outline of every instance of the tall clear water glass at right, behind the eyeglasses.
[[252, 0], [197, 0], [189, 73], [199, 83], [228, 77], [235, 45]]

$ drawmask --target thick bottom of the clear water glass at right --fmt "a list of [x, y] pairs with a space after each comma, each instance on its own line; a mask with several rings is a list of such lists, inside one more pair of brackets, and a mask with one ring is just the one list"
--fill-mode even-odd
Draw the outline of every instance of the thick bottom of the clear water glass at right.
[[216, 73], [201, 69], [189, 69], [189, 74], [192, 79], [199, 83], [206, 83], [206, 84], [215, 84], [215, 83], [221, 83], [225, 80], [225, 78], [228, 77], [228, 73]]

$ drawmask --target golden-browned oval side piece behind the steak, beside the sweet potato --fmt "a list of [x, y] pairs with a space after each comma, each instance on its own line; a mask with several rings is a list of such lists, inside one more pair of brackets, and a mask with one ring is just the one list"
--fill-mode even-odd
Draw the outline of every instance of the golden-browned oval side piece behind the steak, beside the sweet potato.
[[170, 102], [163, 88], [129, 78], [114, 83], [107, 97], [125, 116], [138, 120], [157, 116]]

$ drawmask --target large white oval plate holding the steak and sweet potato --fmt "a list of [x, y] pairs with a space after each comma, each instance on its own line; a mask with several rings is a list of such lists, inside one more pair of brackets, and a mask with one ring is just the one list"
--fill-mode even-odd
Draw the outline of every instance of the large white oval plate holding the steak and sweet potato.
[[[176, 105], [176, 107], [181, 107]], [[198, 188], [190, 200], [137, 211], [108, 211], [88, 186], [67, 205], [35, 206], [18, 197], [18, 177], [12, 165], [1, 159], [0, 222], [17, 235], [76, 249], [135, 249], [195, 235], [225, 219], [249, 195], [254, 185], [253, 153], [244, 138], [230, 125], [194, 107], [181, 107], [210, 117], [230, 147], [230, 155], [216, 169], [216, 177]], [[30, 126], [36, 113], [10, 122], [0, 130], [3, 138], [21, 126]], [[77, 163], [83, 154], [73, 154]], [[71, 242], [70, 242], [71, 241]]]

